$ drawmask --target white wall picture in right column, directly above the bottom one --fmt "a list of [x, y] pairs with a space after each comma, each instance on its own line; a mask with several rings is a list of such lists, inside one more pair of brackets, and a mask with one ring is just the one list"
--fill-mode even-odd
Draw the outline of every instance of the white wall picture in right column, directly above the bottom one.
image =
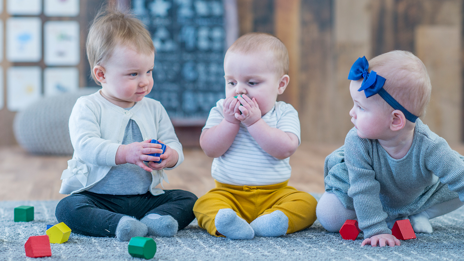
[[44, 61], [47, 65], [79, 63], [79, 23], [48, 21], [44, 24]]

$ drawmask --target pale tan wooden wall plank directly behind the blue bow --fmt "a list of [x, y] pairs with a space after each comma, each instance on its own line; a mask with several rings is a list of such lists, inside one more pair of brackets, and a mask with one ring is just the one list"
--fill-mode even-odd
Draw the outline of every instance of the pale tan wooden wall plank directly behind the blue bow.
[[348, 73], [358, 57], [371, 58], [370, 0], [335, 0], [334, 6], [334, 74], [330, 88], [329, 140], [342, 141], [353, 127], [349, 110], [353, 100], [349, 94]]

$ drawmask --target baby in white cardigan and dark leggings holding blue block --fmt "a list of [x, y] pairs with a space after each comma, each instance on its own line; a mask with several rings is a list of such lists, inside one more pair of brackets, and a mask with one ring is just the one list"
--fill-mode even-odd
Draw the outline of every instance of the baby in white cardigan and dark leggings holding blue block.
[[[73, 158], [63, 172], [58, 222], [87, 236], [174, 236], [194, 218], [197, 197], [161, 190], [163, 169], [183, 161], [182, 146], [152, 87], [155, 47], [133, 16], [111, 10], [89, 30], [87, 56], [97, 93], [77, 100], [69, 121]], [[158, 140], [166, 145], [150, 143]], [[162, 153], [159, 157], [148, 154]], [[160, 161], [156, 163], [156, 161]], [[148, 163], [145, 163], [147, 161]]]

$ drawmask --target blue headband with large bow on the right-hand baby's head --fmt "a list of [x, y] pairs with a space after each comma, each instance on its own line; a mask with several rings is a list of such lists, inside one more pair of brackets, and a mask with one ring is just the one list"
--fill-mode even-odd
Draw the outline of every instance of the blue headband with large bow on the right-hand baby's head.
[[371, 71], [369, 73], [368, 69], [369, 63], [367, 62], [366, 57], [363, 56], [362, 58], [358, 58], [349, 70], [348, 80], [357, 81], [361, 78], [364, 78], [361, 83], [361, 88], [359, 88], [358, 91], [364, 90], [366, 98], [369, 98], [375, 94], [379, 94], [380, 97], [382, 97], [395, 110], [400, 110], [403, 112], [408, 121], [416, 122], [417, 118], [419, 117], [406, 110], [399, 102], [393, 99], [393, 97], [389, 95], [385, 89], [383, 89], [385, 78], [377, 75], [375, 71]]

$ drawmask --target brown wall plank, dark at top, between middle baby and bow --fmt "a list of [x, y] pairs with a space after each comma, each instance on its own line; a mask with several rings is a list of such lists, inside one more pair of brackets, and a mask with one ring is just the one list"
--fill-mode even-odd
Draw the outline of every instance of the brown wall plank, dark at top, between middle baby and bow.
[[334, 84], [332, 53], [332, 2], [301, 3], [300, 106], [302, 140], [328, 141], [332, 106], [329, 90]]

